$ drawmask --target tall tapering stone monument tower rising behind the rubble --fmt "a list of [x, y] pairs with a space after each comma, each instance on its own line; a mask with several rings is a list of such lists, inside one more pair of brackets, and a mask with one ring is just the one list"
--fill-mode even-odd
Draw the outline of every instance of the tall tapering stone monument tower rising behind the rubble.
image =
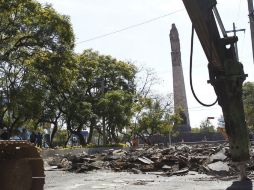
[[172, 24], [169, 37], [171, 43], [171, 59], [173, 70], [174, 107], [175, 112], [178, 109], [182, 110], [182, 113], [180, 115], [183, 121], [179, 126], [179, 131], [190, 132], [191, 127], [184, 85], [180, 40], [175, 24]]

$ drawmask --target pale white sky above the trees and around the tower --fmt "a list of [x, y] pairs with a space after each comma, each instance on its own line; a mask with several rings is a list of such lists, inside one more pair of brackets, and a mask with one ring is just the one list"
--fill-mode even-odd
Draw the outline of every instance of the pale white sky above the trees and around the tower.
[[[179, 32], [182, 65], [189, 107], [191, 127], [199, 127], [200, 122], [208, 116], [217, 118], [222, 114], [216, 105], [210, 108], [199, 105], [194, 99], [189, 85], [189, 56], [191, 22], [181, 0], [39, 0], [50, 3], [61, 14], [69, 15], [76, 36], [75, 51], [81, 53], [92, 48], [101, 54], [111, 55], [120, 60], [131, 60], [137, 65], [153, 68], [158, 77], [155, 94], [173, 92], [171, 49], [169, 31], [172, 23]], [[239, 58], [249, 74], [246, 81], [254, 81], [254, 64], [252, 60], [250, 27], [247, 0], [217, 0], [226, 30], [232, 30], [233, 22], [239, 32]], [[178, 11], [178, 12], [176, 12]], [[86, 41], [97, 36], [112, 33], [123, 28], [146, 22], [166, 14], [156, 21], [133, 27], [119, 33]], [[194, 42], [193, 85], [197, 96], [204, 103], [212, 103], [215, 93], [207, 84], [207, 60], [197, 36]]]

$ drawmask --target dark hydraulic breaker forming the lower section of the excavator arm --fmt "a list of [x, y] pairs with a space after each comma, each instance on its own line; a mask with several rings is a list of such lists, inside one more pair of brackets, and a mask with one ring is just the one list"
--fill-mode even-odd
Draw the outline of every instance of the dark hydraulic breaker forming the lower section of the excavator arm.
[[209, 64], [210, 83], [222, 108], [230, 152], [234, 162], [249, 160], [249, 138], [242, 101], [242, 83], [246, 78], [242, 64], [227, 61], [224, 75], [214, 75]]

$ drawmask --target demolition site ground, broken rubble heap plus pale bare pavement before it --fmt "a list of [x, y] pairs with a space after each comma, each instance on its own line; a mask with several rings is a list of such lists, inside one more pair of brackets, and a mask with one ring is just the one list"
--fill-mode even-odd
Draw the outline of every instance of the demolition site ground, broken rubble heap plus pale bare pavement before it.
[[242, 182], [230, 162], [227, 144], [100, 152], [94, 155], [85, 152], [61, 155], [57, 152], [53, 157], [52, 153], [50, 157], [44, 157], [44, 189], [253, 190], [253, 146], [247, 164], [249, 180]]

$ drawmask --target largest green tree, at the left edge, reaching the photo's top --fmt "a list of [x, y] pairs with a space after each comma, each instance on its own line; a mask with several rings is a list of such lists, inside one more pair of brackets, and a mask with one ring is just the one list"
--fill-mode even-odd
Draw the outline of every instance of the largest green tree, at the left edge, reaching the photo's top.
[[33, 0], [1, 0], [0, 18], [0, 124], [11, 132], [40, 115], [52, 81], [66, 83], [74, 35], [68, 17]]

